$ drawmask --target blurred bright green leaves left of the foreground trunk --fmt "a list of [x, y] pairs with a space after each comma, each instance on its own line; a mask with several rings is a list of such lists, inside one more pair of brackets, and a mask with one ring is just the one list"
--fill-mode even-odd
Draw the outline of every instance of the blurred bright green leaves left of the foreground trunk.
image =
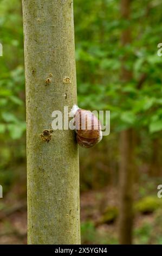
[[[16, 7], [16, 8], [15, 8]], [[20, 139], [25, 130], [23, 31], [21, 1], [0, 3], [0, 138]], [[14, 23], [14, 26], [12, 26]]]

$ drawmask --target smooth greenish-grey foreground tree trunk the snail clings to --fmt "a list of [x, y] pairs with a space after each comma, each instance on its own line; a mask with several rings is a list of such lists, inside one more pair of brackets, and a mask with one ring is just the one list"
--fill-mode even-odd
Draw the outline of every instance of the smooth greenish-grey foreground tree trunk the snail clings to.
[[[79, 156], [51, 113], [76, 103], [72, 0], [22, 0], [27, 104], [28, 243], [79, 244]], [[66, 82], [65, 82], [66, 81]]]

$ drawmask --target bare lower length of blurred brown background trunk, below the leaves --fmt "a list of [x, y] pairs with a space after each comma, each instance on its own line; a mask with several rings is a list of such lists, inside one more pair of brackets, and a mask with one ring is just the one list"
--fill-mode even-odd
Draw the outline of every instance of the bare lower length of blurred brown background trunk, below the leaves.
[[119, 242], [132, 243], [133, 227], [133, 181], [134, 181], [134, 134], [129, 129], [120, 135], [120, 208]]

